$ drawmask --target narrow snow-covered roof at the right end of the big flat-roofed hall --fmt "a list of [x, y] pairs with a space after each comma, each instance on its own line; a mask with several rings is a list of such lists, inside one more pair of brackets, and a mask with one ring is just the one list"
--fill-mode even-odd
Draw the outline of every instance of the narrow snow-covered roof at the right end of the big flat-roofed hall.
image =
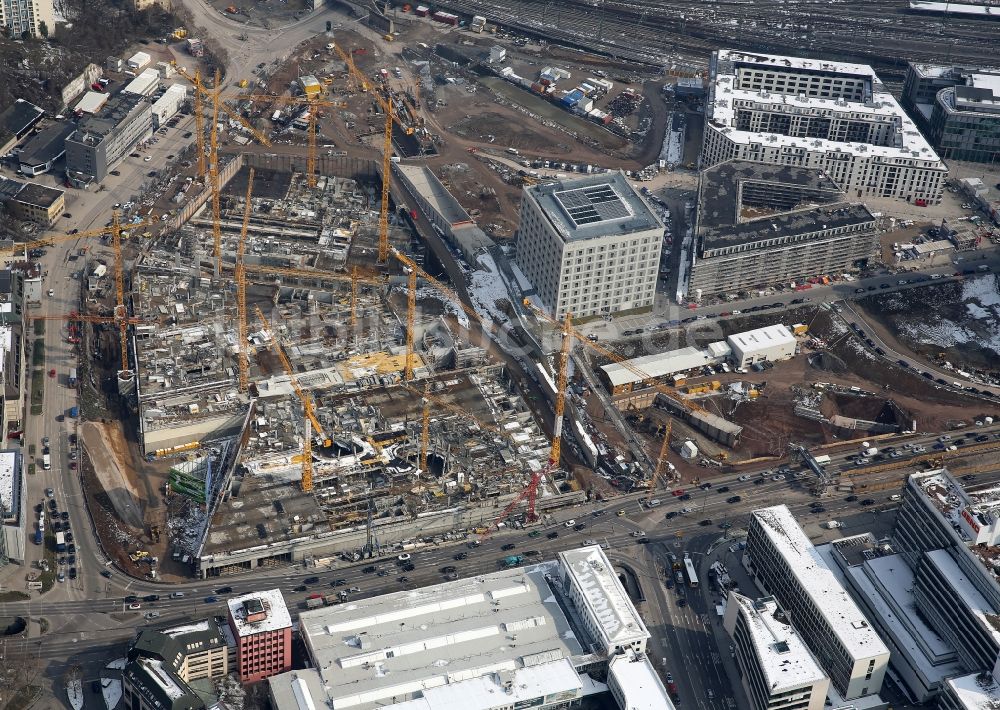
[[583, 600], [581, 614], [590, 617], [606, 652], [649, 638], [646, 625], [632, 605], [621, 580], [600, 545], [578, 547], [559, 553], [563, 571]]

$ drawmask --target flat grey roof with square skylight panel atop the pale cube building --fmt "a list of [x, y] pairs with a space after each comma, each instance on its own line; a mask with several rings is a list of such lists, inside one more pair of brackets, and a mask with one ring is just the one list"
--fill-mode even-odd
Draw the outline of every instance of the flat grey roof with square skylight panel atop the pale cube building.
[[566, 241], [663, 229], [621, 172], [556, 180], [525, 191]]

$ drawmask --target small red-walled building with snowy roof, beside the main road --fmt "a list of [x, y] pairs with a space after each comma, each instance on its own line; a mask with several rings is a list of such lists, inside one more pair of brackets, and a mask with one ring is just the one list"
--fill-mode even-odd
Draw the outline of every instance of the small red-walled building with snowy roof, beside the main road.
[[281, 590], [244, 594], [228, 604], [240, 680], [255, 683], [291, 668], [292, 617]]

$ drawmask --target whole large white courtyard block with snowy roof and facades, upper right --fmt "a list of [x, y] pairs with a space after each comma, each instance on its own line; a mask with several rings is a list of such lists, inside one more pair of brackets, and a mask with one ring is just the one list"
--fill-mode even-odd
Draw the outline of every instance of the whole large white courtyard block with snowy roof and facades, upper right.
[[819, 168], [847, 194], [941, 200], [948, 168], [870, 66], [713, 53], [702, 163]]

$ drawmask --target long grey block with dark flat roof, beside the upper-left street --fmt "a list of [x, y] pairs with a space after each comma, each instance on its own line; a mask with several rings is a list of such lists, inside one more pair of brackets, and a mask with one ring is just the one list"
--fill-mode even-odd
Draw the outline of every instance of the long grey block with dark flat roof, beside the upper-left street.
[[139, 141], [152, 135], [153, 117], [145, 96], [121, 93], [101, 111], [80, 119], [66, 139], [66, 177], [75, 187], [101, 182]]

